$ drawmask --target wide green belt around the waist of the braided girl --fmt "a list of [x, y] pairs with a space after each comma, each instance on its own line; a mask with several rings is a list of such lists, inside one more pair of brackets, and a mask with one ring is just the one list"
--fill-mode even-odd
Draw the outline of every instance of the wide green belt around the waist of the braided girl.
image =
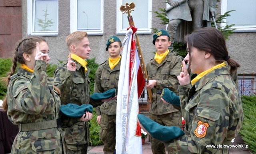
[[60, 118], [58, 118], [58, 119], [42, 121], [42, 122], [31, 122], [31, 123], [19, 124], [18, 126], [19, 126], [20, 132], [44, 130], [49, 128], [61, 127], [61, 120]]

